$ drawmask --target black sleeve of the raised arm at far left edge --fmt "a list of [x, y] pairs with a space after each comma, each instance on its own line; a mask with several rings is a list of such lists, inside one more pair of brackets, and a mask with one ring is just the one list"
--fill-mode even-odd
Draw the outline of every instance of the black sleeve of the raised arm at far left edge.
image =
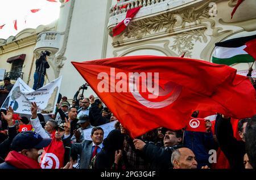
[[3, 159], [5, 159], [11, 151], [11, 142], [17, 134], [16, 127], [8, 127], [8, 134], [8, 138], [0, 144], [0, 157]]

